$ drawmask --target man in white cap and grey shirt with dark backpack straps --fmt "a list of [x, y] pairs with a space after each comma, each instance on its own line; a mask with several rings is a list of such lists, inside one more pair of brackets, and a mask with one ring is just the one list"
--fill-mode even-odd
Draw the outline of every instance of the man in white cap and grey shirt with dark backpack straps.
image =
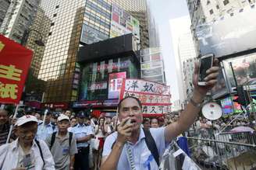
[[68, 132], [69, 117], [61, 114], [57, 119], [58, 131], [47, 137], [46, 144], [52, 152], [56, 170], [72, 170], [77, 153], [76, 138]]

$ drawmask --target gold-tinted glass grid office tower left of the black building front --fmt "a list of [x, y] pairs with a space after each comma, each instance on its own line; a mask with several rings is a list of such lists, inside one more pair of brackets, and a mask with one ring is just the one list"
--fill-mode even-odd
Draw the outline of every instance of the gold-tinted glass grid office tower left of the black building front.
[[[47, 25], [42, 33], [48, 36], [38, 75], [38, 78], [45, 82], [44, 102], [69, 102], [76, 99], [77, 87], [73, 90], [73, 78], [84, 5], [83, 0], [41, 2], [40, 7]], [[49, 19], [50, 28], [48, 28]], [[41, 24], [38, 23], [38, 26]]]

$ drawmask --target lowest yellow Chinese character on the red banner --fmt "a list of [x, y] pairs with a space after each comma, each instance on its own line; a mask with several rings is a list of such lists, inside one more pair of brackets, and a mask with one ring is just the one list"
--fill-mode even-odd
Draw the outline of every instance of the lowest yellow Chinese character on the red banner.
[[18, 90], [16, 89], [18, 85], [15, 84], [0, 84], [0, 98], [11, 98], [17, 99], [16, 93]]

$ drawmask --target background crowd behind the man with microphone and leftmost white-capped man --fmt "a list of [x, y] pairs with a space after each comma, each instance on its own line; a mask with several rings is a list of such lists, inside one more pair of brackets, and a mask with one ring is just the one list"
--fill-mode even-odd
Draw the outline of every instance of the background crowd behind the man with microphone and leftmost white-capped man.
[[[63, 168], [67, 166], [66, 162], [69, 162], [69, 168], [67, 169], [72, 169], [73, 167], [75, 167], [75, 169], [79, 169], [76, 168], [76, 165], [80, 165], [82, 162], [85, 162], [82, 160], [85, 154], [87, 154], [87, 162], [89, 162], [89, 164], [84, 166], [89, 167], [90, 169], [98, 169], [101, 165], [101, 154], [105, 138], [116, 130], [115, 125], [117, 123], [116, 116], [110, 117], [101, 115], [99, 117], [88, 117], [84, 111], [80, 111], [79, 113], [72, 113], [70, 110], [66, 110], [66, 112], [48, 111], [45, 113], [44, 117], [44, 112], [39, 112], [31, 108], [19, 111], [16, 115], [16, 119], [12, 119], [13, 115], [9, 115], [7, 111], [1, 109], [0, 146], [6, 143], [11, 124], [13, 124], [14, 127], [9, 142], [16, 141], [16, 138], [20, 137], [16, 133], [17, 120], [19, 120], [20, 117], [24, 118], [24, 115], [34, 116], [37, 119], [37, 132], [35, 134], [35, 138], [45, 141], [45, 143], [48, 145], [50, 151], [52, 152], [56, 169], [66, 169]], [[144, 118], [142, 126], [146, 129], [150, 127], [164, 127], [165, 125], [176, 121], [177, 118], [177, 116], [171, 115]], [[26, 117], [24, 119], [26, 119]], [[76, 147], [76, 149], [73, 149], [73, 151], [68, 153], [69, 161], [67, 161], [67, 158], [63, 158], [62, 156], [62, 154], [65, 152], [65, 148], [61, 147], [62, 138], [58, 138], [58, 135], [61, 134], [61, 131], [64, 133], [64, 139], [65, 137], [69, 138], [69, 133], [73, 133], [73, 137], [71, 137], [72, 145], [73, 140], [76, 141], [76, 144], [72, 146], [68, 144], [68, 140], [66, 140], [66, 145], [68, 148]], [[57, 132], [58, 134], [56, 134]], [[84, 148], [86, 148], [86, 150]], [[59, 150], [63, 150], [64, 152], [61, 153]], [[79, 154], [81, 155], [79, 156]]]

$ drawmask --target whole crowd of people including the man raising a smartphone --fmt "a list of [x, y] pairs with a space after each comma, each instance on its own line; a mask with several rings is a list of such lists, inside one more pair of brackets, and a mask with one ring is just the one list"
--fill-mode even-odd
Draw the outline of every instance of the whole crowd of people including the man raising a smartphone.
[[42, 116], [32, 109], [14, 119], [1, 109], [0, 169], [157, 170], [167, 145], [196, 120], [204, 96], [217, 82], [217, 65], [215, 60], [206, 72], [206, 85], [199, 86], [196, 64], [194, 93], [179, 119], [144, 119], [140, 99], [133, 96], [119, 101], [117, 117], [98, 120], [88, 119], [83, 111], [76, 115], [69, 110], [60, 114], [44, 111]]

